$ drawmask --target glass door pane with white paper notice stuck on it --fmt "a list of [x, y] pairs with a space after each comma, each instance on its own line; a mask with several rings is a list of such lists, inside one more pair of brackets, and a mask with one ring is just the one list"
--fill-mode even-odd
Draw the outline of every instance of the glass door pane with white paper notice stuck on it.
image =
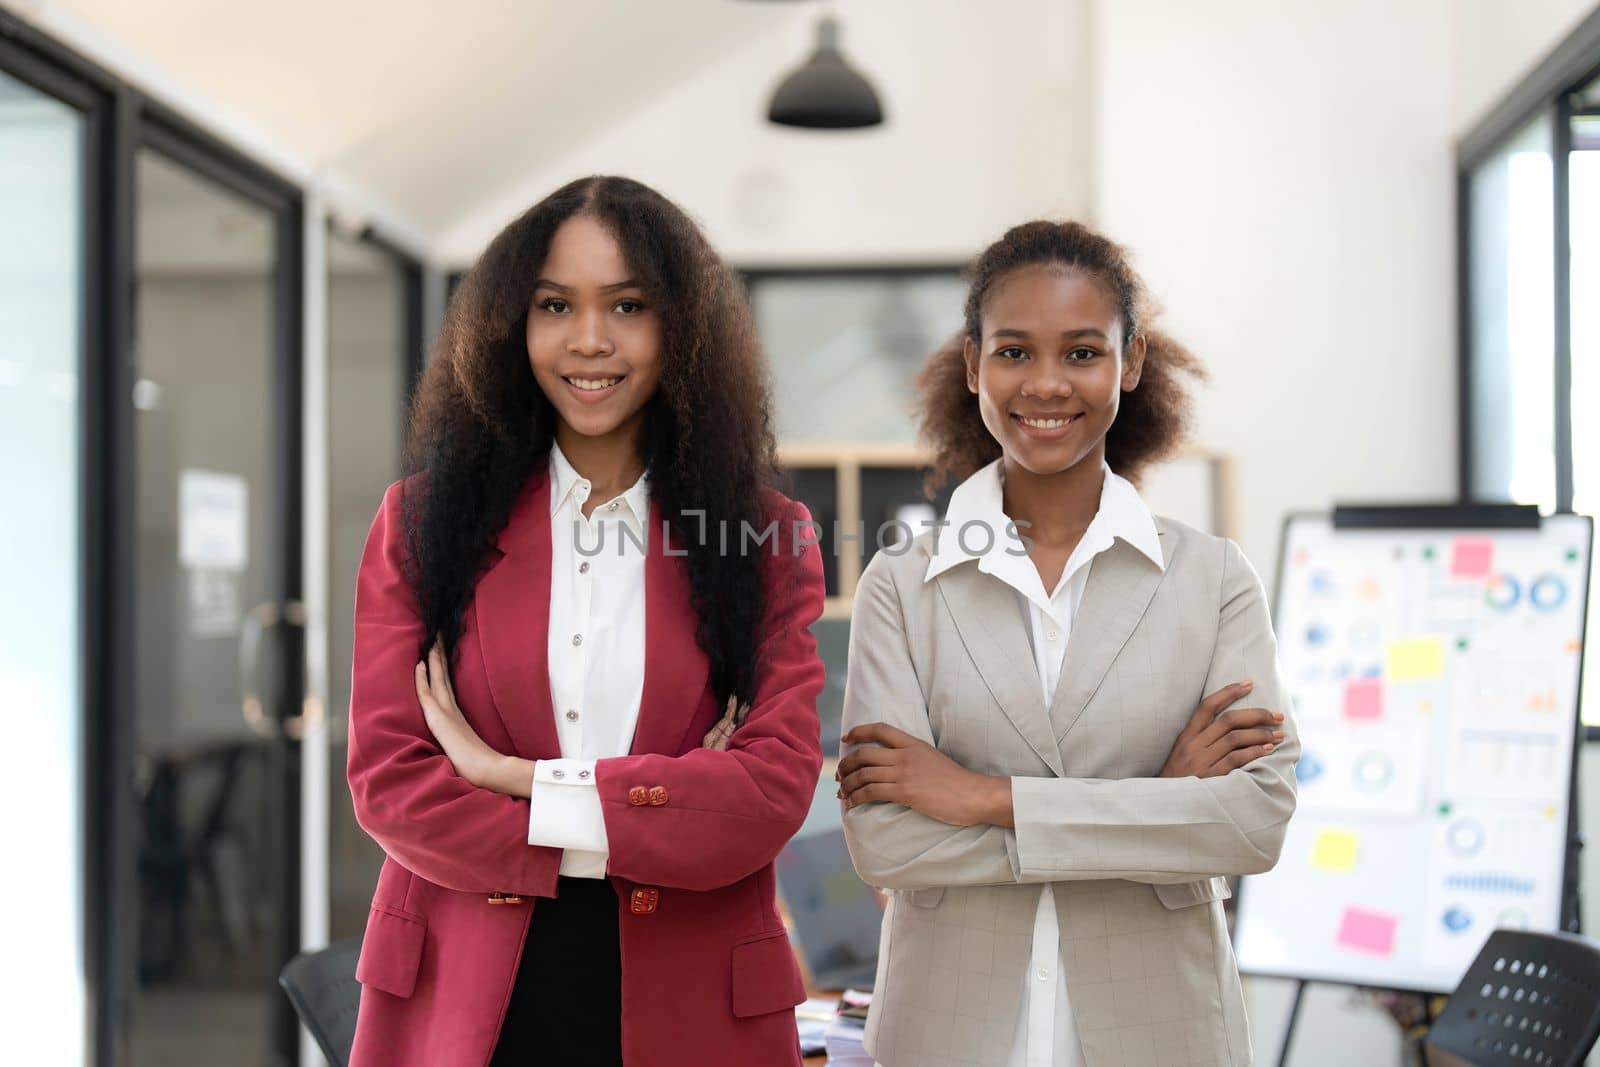
[[298, 208], [133, 162], [131, 1062], [290, 1064], [299, 937]]

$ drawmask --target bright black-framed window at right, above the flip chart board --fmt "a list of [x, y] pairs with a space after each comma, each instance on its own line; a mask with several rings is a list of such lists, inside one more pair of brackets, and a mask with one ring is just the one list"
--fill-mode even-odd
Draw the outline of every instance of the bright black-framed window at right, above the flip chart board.
[[[1461, 494], [1600, 512], [1600, 11], [1467, 138]], [[1584, 723], [1600, 739], [1590, 573]]]

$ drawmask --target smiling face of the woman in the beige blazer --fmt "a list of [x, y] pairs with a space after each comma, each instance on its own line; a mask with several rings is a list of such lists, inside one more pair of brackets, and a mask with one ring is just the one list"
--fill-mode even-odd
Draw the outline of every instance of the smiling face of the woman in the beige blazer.
[[1059, 264], [997, 278], [982, 339], [966, 341], [966, 387], [1006, 464], [1053, 475], [1106, 458], [1123, 392], [1139, 384], [1144, 338], [1123, 350], [1117, 302], [1090, 275]]

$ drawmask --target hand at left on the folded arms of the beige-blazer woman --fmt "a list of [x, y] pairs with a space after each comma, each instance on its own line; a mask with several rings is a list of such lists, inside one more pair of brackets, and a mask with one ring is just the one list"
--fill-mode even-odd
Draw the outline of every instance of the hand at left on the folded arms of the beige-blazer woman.
[[1013, 822], [1010, 777], [968, 771], [926, 741], [888, 723], [856, 726], [843, 742], [869, 745], [838, 761], [834, 777], [846, 809], [894, 803], [950, 825]]

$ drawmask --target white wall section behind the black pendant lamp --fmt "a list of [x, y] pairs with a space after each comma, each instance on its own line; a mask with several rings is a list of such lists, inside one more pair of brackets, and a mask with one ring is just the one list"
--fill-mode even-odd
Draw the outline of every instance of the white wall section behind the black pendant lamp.
[[[779, 5], [766, 5], [779, 6]], [[470, 262], [571, 178], [656, 186], [741, 264], [963, 261], [1032, 214], [1082, 214], [1090, 186], [1088, 0], [843, 0], [843, 51], [888, 123], [818, 133], [766, 122], [824, 8], [763, 34], [526, 174], [446, 230]]]

